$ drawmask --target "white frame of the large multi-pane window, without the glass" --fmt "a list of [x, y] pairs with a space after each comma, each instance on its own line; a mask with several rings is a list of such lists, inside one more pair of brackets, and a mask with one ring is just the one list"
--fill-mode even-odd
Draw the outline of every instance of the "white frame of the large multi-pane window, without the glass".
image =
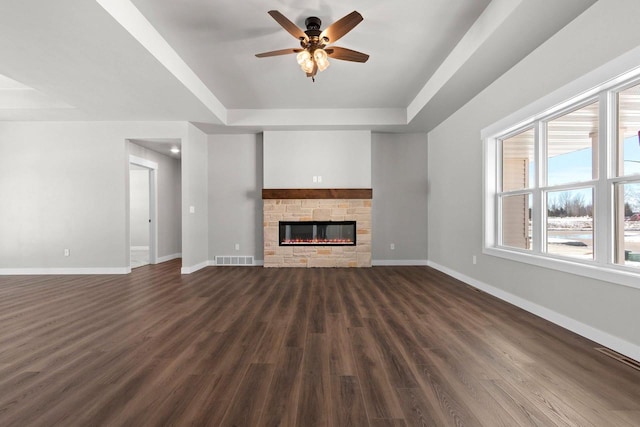
[[[483, 141], [483, 253], [512, 261], [528, 263], [580, 276], [640, 289], [640, 269], [614, 263], [614, 185], [636, 182], [638, 175], [616, 176], [616, 93], [640, 83], [640, 47], [603, 65], [525, 108], [488, 126], [481, 132]], [[589, 102], [599, 102], [598, 179], [580, 183], [546, 186], [546, 153], [541, 152], [539, 138], [545, 135], [545, 122]], [[534, 128], [536, 145], [536, 182], [528, 189], [501, 193], [502, 159], [500, 140]], [[543, 180], [539, 179], [544, 178]], [[544, 185], [542, 185], [544, 184]], [[545, 239], [546, 191], [593, 186], [594, 258], [579, 259], [556, 256], [543, 249]], [[499, 246], [500, 215], [498, 194], [533, 194], [532, 248]], [[602, 207], [606, 207], [602, 208]]]

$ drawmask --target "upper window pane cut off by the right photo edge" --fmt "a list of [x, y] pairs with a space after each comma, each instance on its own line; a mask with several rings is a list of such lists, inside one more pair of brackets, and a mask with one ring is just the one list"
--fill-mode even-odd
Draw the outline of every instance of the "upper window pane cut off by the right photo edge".
[[640, 85], [618, 94], [618, 176], [640, 174]]

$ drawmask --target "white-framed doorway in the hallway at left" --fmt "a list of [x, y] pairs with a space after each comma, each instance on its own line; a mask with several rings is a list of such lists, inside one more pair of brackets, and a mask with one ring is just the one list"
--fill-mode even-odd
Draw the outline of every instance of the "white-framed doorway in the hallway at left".
[[158, 164], [129, 156], [129, 261], [131, 268], [157, 264]]

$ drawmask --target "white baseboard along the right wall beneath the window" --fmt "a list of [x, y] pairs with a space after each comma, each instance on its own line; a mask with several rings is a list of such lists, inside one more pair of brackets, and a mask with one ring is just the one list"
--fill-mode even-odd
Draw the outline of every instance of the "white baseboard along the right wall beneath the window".
[[634, 343], [625, 341], [614, 335], [608, 334], [585, 323], [565, 316], [564, 314], [560, 314], [556, 311], [550, 310], [546, 307], [538, 305], [517, 295], [513, 295], [512, 293], [506, 292], [500, 288], [496, 288], [495, 286], [488, 285], [484, 282], [461, 274], [455, 270], [451, 270], [450, 268], [439, 265], [435, 262], [429, 261], [428, 265], [429, 267], [435, 268], [436, 270], [439, 270], [451, 277], [454, 277], [462, 282], [465, 282], [468, 285], [473, 286], [474, 288], [480, 289], [503, 301], [507, 301], [508, 303], [520, 307], [521, 309], [526, 310], [529, 313], [533, 313], [536, 316], [542, 317], [543, 319], [548, 320], [551, 323], [562, 326], [563, 328], [568, 329], [571, 332], [575, 332], [576, 334], [581, 335], [585, 338], [588, 338], [591, 341], [600, 343], [604, 347], [609, 347], [610, 349], [624, 354], [625, 356], [628, 356], [634, 360], [640, 360], [640, 346]]

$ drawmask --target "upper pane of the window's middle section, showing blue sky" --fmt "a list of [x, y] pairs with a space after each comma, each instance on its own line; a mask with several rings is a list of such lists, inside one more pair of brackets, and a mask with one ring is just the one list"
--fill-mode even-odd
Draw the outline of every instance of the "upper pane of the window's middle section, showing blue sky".
[[598, 178], [598, 103], [547, 123], [547, 185]]

